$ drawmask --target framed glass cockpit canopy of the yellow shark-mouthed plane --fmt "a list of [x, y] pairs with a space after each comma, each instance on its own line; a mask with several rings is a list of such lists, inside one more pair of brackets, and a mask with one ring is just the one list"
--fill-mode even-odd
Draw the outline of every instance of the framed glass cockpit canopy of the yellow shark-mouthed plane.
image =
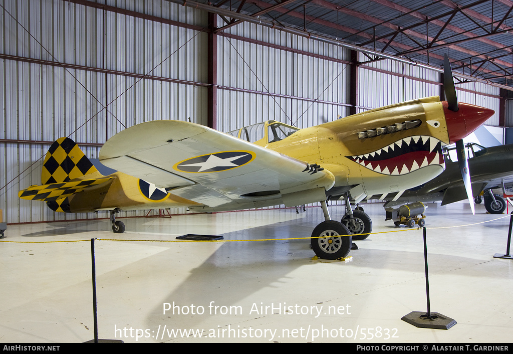
[[269, 143], [283, 140], [297, 131], [299, 131], [299, 128], [274, 120], [268, 120], [267, 122], [248, 125], [226, 134], [265, 146]]

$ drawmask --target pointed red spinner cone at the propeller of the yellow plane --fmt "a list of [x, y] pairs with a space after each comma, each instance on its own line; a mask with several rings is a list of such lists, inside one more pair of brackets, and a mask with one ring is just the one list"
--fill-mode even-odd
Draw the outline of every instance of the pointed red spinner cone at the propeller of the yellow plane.
[[458, 103], [458, 111], [447, 108], [447, 102], [442, 101], [447, 123], [447, 132], [451, 143], [463, 139], [494, 115], [493, 109], [475, 106], [468, 103]]

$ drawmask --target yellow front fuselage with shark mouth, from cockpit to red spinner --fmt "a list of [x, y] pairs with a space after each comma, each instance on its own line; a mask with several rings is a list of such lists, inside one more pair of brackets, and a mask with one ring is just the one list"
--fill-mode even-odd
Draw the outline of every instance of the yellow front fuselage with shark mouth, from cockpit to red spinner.
[[371, 195], [413, 188], [438, 176], [446, 144], [442, 103], [424, 99], [301, 129], [267, 147], [321, 165], [336, 177], [334, 187], [359, 184], [361, 193]]

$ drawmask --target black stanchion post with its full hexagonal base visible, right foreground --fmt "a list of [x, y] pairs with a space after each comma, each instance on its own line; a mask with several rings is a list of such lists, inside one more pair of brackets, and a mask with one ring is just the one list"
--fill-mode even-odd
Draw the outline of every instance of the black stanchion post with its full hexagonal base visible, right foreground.
[[427, 313], [413, 311], [403, 316], [401, 320], [419, 328], [433, 328], [433, 329], [449, 329], [456, 324], [456, 321], [450, 319], [438, 312], [431, 313], [431, 303], [429, 301], [429, 272], [427, 268], [427, 237], [426, 228], [424, 231], [424, 269], [426, 272], [426, 298], [427, 298]]

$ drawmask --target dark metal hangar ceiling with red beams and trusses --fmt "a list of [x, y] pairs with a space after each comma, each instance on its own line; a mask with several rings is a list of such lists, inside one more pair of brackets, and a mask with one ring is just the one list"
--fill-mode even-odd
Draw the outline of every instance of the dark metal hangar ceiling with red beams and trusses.
[[[447, 54], [460, 81], [513, 90], [509, 0], [171, 0], [217, 13], [224, 26], [249, 21], [365, 53], [440, 70]], [[361, 64], [361, 63], [360, 63]]]

